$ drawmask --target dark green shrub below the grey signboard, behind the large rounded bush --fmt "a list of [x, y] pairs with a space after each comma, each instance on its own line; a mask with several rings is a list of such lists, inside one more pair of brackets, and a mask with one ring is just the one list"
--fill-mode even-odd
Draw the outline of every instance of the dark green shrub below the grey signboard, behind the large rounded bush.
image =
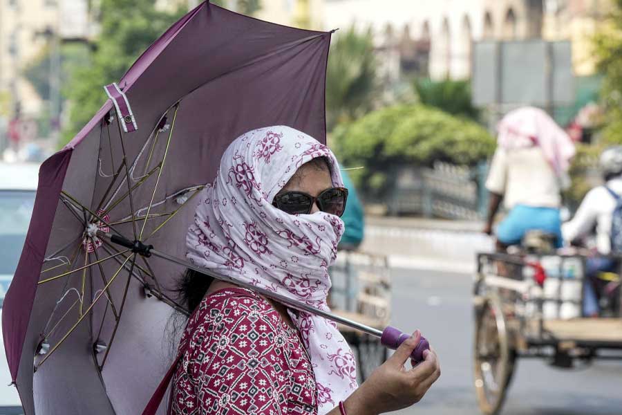
[[480, 110], [471, 104], [471, 83], [469, 81], [444, 80], [435, 82], [417, 79], [413, 87], [422, 104], [442, 109], [455, 116], [473, 120], [480, 118]]

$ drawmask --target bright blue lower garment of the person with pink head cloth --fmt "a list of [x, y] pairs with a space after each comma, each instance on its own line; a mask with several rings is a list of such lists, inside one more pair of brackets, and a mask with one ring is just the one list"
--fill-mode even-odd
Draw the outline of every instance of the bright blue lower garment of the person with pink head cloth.
[[504, 245], [516, 245], [529, 230], [542, 230], [556, 235], [556, 246], [563, 246], [559, 209], [516, 205], [497, 228], [497, 239]]

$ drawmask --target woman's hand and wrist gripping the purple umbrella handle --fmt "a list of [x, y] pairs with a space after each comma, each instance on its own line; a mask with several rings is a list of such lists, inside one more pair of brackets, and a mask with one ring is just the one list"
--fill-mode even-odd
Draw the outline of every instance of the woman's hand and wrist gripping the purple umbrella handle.
[[404, 367], [420, 338], [421, 333], [415, 331], [352, 393], [344, 402], [348, 414], [375, 415], [397, 411], [423, 398], [440, 376], [440, 365], [436, 353], [429, 350], [424, 351], [424, 361], [419, 365], [412, 369]]

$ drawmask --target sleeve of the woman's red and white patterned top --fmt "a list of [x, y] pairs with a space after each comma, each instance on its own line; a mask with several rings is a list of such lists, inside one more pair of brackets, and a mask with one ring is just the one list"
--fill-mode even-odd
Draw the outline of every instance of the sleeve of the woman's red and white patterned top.
[[259, 310], [256, 299], [223, 302], [194, 331], [186, 370], [198, 413], [287, 413], [288, 362], [275, 341], [283, 334]]

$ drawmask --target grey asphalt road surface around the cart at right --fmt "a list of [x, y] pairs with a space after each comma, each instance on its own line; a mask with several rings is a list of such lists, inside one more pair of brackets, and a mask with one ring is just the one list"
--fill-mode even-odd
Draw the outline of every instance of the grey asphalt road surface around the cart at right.
[[[441, 378], [424, 399], [395, 414], [480, 414], [472, 385], [471, 276], [393, 269], [392, 324], [420, 329], [440, 356]], [[554, 369], [519, 360], [503, 415], [622, 415], [622, 362]]]

